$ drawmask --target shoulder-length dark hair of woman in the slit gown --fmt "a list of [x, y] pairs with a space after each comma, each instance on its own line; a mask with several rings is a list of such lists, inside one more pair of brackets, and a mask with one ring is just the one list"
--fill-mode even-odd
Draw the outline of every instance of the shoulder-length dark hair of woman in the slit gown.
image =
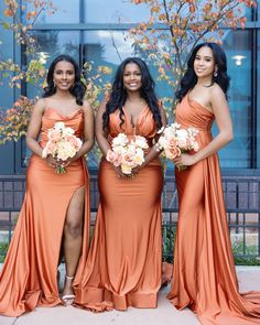
[[86, 91], [86, 86], [83, 84], [80, 79], [82, 73], [80, 73], [78, 64], [76, 63], [74, 58], [72, 58], [72, 56], [66, 54], [58, 55], [51, 63], [48, 72], [47, 72], [47, 78], [46, 78], [47, 87], [44, 88], [43, 97], [44, 98], [50, 97], [56, 93], [56, 87], [53, 82], [53, 74], [54, 74], [56, 64], [61, 61], [69, 62], [74, 66], [75, 82], [73, 87], [69, 89], [69, 93], [76, 98], [77, 105], [83, 106], [83, 99], [84, 99], [84, 94]]

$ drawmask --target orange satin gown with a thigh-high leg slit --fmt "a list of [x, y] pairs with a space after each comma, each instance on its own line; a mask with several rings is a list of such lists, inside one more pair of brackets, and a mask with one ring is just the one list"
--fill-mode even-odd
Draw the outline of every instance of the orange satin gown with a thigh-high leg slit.
[[[42, 118], [40, 144], [47, 131], [63, 121], [83, 136], [84, 112], [68, 117], [48, 108]], [[74, 193], [86, 187], [83, 253], [75, 283], [80, 279], [89, 241], [89, 178], [83, 159], [72, 163], [66, 174], [56, 174], [41, 158], [33, 155], [26, 175], [26, 193], [0, 275], [0, 314], [19, 316], [36, 306], [62, 304], [57, 288], [57, 266], [66, 210]]]

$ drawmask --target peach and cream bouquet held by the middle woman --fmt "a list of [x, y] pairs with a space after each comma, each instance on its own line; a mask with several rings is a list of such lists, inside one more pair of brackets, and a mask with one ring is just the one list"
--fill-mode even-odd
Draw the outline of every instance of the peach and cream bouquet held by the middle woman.
[[144, 149], [148, 149], [147, 139], [134, 136], [132, 139], [124, 133], [119, 133], [112, 139], [112, 150], [107, 152], [107, 161], [115, 166], [120, 166], [126, 175], [131, 175], [132, 169], [144, 162]]

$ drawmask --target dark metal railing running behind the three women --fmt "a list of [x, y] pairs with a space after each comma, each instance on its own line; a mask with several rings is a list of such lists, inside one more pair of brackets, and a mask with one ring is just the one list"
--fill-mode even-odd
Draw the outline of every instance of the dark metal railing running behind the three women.
[[[225, 176], [223, 188], [235, 257], [260, 257], [260, 177]], [[25, 176], [0, 176], [0, 242], [10, 241], [25, 191]], [[97, 175], [90, 177], [91, 226], [98, 205]], [[163, 203], [163, 256], [172, 259], [177, 221], [173, 176], [166, 176]]]

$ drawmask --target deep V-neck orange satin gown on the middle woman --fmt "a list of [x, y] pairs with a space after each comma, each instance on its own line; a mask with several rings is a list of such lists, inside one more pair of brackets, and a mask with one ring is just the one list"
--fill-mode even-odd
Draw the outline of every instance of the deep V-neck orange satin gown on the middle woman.
[[[151, 143], [156, 133], [152, 112], [144, 107], [133, 128], [124, 111], [110, 115], [110, 138], [124, 132]], [[75, 305], [94, 312], [155, 307], [161, 284], [163, 172], [159, 159], [134, 178], [118, 178], [102, 159], [100, 202], [84, 277], [76, 288]]]

